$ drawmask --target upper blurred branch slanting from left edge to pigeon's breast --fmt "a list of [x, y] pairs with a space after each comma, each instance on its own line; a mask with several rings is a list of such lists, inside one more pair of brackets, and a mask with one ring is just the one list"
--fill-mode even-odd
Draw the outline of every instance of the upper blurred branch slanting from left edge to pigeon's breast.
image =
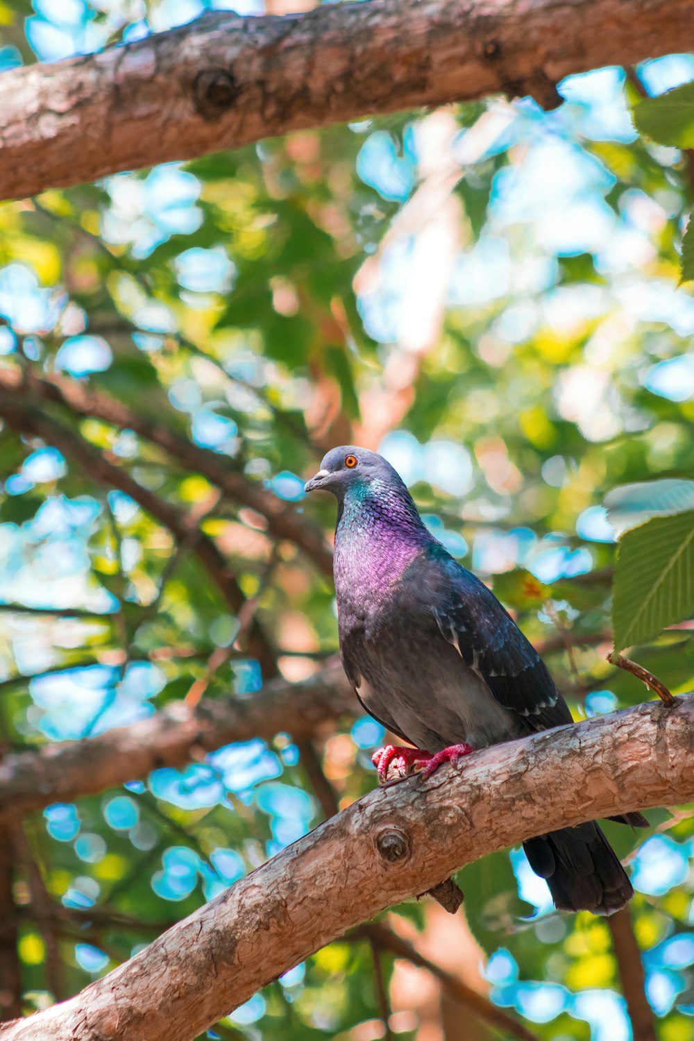
[[108, 395], [92, 389], [85, 382], [56, 375], [37, 377], [14, 367], [0, 369], [0, 388], [10, 393], [32, 393], [55, 402], [78, 415], [94, 416], [121, 430], [132, 430], [171, 455], [176, 462], [202, 474], [228, 499], [254, 510], [267, 522], [267, 534], [275, 539], [293, 542], [326, 575], [333, 574], [333, 555], [323, 532], [302, 518], [287, 503], [272, 491], [249, 481], [214, 452], [194, 445], [161, 424], [123, 405]]

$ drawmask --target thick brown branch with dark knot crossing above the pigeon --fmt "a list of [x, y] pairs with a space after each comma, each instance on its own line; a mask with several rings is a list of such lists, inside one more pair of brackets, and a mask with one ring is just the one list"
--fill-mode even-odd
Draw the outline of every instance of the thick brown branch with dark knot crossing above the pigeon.
[[502, 92], [694, 40], [691, 0], [390, 0], [192, 25], [0, 77], [0, 198]]

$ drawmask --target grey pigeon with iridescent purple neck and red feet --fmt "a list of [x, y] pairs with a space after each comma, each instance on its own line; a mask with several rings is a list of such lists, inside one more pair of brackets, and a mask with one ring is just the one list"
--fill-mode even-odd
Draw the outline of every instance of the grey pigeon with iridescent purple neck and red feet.
[[[478, 748], [572, 722], [537, 651], [490, 589], [425, 526], [382, 456], [332, 449], [305, 490], [337, 500], [340, 655], [361, 705], [405, 745], [374, 754], [381, 783], [429, 777]], [[612, 819], [648, 827], [639, 813]], [[557, 908], [609, 915], [634, 895], [594, 821], [523, 843]]]

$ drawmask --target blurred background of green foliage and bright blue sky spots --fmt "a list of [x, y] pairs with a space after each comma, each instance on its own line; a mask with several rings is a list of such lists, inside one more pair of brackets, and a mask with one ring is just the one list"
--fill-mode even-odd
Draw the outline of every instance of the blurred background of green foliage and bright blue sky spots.
[[[0, 68], [223, 6], [265, 9], [0, 0]], [[304, 480], [334, 445], [378, 449], [437, 537], [543, 648], [576, 718], [638, 703], [643, 686], [606, 661], [626, 522], [602, 503], [627, 483], [692, 474], [694, 301], [677, 286], [676, 250], [694, 166], [639, 138], [628, 108], [692, 78], [694, 59], [674, 55], [566, 79], [549, 112], [491, 98], [364, 119], [4, 204], [0, 376], [107, 395], [294, 504], [327, 538], [334, 504], [305, 502]], [[88, 739], [176, 700], [252, 699], [273, 674], [299, 683], [335, 655], [333, 587], [310, 553], [127, 423], [37, 404], [29, 381], [14, 398], [19, 418], [0, 431], [3, 754]], [[192, 538], [71, 457], [76, 438], [195, 517], [247, 606], [230, 608]], [[652, 506], [644, 492], [631, 509]], [[676, 693], [692, 689], [693, 648], [684, 626], [635, 656]], [[23, 1011], [75, 993], [322, 819], [291, 722], [273, 741], [3, 826], [0, 930]], [[375, 785], [383, 737], [356, 704], [316, 736], [340, 806]], [[649, 833], [610, 835], [637, 891], [657, 1036], [690, 1041], [694, 818], [649, 816]], [[519, 849], [460, 881], [455, 918], [431, 900], [384, 917], [537, 1038], [627, 1041], [608, 923], [555, 912]], [[16, 1013], [18, 994], [0, 990]], [[387, 1030], [498, 1036], [426, 968], [359, 936], [207, 1036], [371, 1041]]]

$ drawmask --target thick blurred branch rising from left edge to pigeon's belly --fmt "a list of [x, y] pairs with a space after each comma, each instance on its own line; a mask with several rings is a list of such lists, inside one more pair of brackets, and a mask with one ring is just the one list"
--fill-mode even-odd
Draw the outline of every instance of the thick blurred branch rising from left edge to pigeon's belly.
[[9, 754], [0, 762], [0, 820], [118, 787], [160, 766], [183, 766], [232, 741], [271, 741], [286, 730], [306, 739], [355, 708], [337, 663], [303, 683], [273, 680], [253, 697], [210, 699], [195, 707], [174, 702], [98, 737]]

